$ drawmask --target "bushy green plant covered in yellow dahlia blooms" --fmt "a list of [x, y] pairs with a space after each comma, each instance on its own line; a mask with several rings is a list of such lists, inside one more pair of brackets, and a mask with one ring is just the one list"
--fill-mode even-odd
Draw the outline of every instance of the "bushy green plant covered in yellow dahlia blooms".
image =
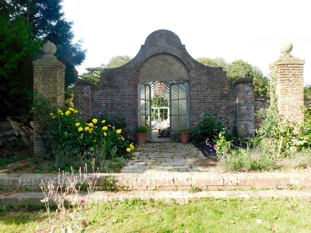
[[112, 156], [114, 148], [117, 148], [118, 156], [127, 156], [131, 151], [122, 129], [107, 124], [105, 119], [94, 118], [86, 123], [78, 116], [78, 111], [71, 107], [64, 112], [53, 110], [48, 127], [47, 137], [54, 148], [71, 150], [73, 154], [89, 154], [103, 142], [106, 145], [103, 151], [106, 158]]

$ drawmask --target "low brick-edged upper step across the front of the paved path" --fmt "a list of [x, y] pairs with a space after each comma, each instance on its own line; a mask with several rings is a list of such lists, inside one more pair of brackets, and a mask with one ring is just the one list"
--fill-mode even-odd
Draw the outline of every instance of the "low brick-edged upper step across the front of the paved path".
[[[78, 174], [77, 174], [78, 175]], [[90, 174], [92, 176], [92, 174]], [[126, 186], [130, 190], [187, 190], [192, 186], [202, 189], [286, 188], [287, 184], [311, 188], [311, 172], [261, 172], [261, 173], [98, 173], [96, 185], [101, 186], [111, 176], [115, 186]], [[61, 176], [62, 177], [62, 176]], [[0, 174], [3, 188], [38, 190], [40, 183], [58, 184], [57, 174]]]

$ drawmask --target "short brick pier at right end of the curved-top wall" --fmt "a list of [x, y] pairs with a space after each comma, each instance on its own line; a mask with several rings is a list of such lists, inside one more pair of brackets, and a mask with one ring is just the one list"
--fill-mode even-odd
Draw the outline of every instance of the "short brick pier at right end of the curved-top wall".
[[251, 79], [237, 80], [236, 93], [236, 127], [242, 138], [251, 138], [255, 131], [254, 85]]

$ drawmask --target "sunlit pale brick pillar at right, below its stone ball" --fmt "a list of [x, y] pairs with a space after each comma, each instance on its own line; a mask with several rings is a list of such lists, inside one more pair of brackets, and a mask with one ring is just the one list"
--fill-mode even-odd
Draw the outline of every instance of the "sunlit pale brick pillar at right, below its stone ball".
[[304, 116], [299, 107], [304, 105], [304, 60], [290, 53], [282, 54], [269, 67], [280, 116], [285, 117], [288, 107], [288, 120], [303, 121]]

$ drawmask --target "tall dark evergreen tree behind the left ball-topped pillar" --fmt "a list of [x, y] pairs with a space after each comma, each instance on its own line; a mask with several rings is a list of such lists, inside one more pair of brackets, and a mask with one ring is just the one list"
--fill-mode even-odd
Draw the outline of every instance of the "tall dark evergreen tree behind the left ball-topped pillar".
[[[0, 0], [0, 117], [25, 113], [32, 101], [32, 61], [43, 55], [43, 44], [53, 42], [55, 56], [66, 65], [65, 85], [72, 85], [75, 66], [85, 59], [81, 41], [72, 43], [72, 22], [63, 16], [62, 0]], [[27, 90], [26, 90], [27, 89]]]

